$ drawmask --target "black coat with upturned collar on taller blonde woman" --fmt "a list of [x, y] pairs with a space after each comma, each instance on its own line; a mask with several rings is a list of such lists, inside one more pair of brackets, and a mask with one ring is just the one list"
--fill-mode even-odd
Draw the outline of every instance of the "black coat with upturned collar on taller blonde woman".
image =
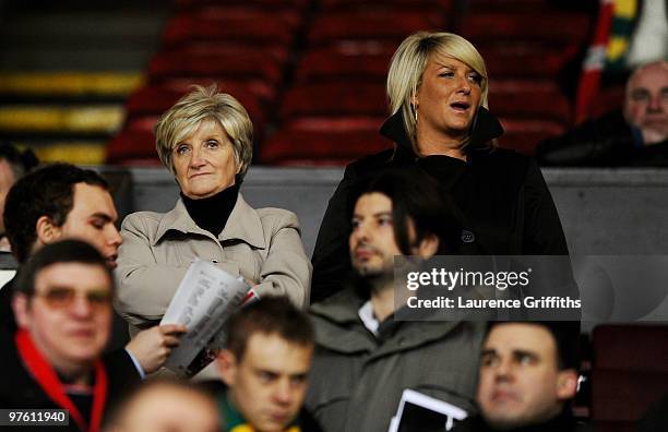
[[311, 301], [336, 292], [350, 268], [348, 235], [353, 200], [363, 182], [387, 169], [417, 169], [439, 181], [464, 217], [461, 254], [568, 255], [557, 208], [536, 163], [487, 144], [503, 133], [499, 121], [480, 108], [466, 147], [467, 161], [446, 156], [418, 157], [404, 130], [401, 111], [381, 133], [395, 147], [346, 167], [330, 199], [313, 251]]

